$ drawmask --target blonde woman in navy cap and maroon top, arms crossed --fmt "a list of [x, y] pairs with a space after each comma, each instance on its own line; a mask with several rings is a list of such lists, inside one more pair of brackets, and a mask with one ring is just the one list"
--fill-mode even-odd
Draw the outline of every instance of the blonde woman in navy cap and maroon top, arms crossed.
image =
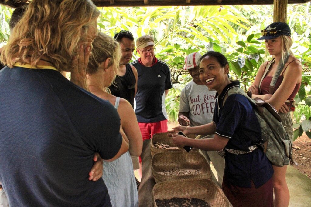
[[[248, 90], [252, 92], [253, 97], [267, 101], [279, 111], [282, 123], [293, 141], [290, 111], [295, 110], [294, 97], [300, 88], [302, 66], [290, 51], [293, 44], [290, 36], [290, 27], [283, 22], [274, 22], [262, 30], [262, 37], [258, 40], [265, 41], [266, 52], [272, 55], [272, 61], [266, 61], [259, 67], [255, 81]], [[269, 89], [278, 68], [280, 75], [276, 77], [274, 89], [271, 87]], [[273, 166], [273, 169], [274, 205], [288, 206], [290, 194], [285, 180], [287, 165]]]

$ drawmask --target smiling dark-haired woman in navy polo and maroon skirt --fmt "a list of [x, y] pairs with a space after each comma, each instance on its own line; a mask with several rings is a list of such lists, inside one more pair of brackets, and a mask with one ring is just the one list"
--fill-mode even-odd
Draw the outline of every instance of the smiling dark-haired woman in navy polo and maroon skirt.
[[[178, 126], [174, 131], [185, 134], [214, 134], [214, 138], [190, 139], [174, 134], [179, 147], [193, 146], [206, 151], [225, 148], [225, 171], [222, 188], [233, 206], [273, 206], [273, 169], [264, 152], [252, 144], [248, 135], [261, 139], [256, 114], [246, 97], [228, 96], [228, 90], [239, 87], [228, 77], [229, 64], [219, 52], [207, 52], [200, 61], [200, 79], [215, 89], [213, 122], [198, 127]], [[172, 131], [172, 132], [174, 132]]]

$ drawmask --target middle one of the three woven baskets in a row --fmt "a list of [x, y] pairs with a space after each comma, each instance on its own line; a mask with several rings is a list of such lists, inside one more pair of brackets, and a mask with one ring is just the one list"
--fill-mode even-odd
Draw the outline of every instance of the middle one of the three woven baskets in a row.
[[[164, 175], [160, 172], [171, 169], [199, 169], [200, 172], [192, 175]], [[156, 182], [187, 178], [211, 179], [211, 168], [206, 159], [196, 151], [169, 151], [155, 154], [151, 159], [151, 171]]]

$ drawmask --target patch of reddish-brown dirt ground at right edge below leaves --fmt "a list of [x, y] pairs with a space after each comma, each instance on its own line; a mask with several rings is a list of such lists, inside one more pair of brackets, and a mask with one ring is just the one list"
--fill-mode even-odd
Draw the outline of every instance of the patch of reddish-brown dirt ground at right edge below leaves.
[[311, 139], [305, 133], [293, 142], [293, 157], [299, 164], [293, 166], [311, 178]]

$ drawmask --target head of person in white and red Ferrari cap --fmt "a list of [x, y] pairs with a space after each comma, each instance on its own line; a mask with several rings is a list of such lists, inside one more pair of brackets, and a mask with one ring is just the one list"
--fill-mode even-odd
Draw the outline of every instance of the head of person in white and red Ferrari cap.
[[188, 70], [189, 74], [193, 78], [194, 83], [201, 85], [199, 65], [202, 55], [198, 52], [193, 52], [185, 58], [184, 69]]

